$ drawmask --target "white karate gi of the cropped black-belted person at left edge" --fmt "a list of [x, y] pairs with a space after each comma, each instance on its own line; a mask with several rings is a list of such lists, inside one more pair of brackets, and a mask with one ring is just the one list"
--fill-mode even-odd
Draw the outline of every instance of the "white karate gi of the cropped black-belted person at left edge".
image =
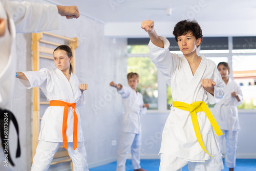
[[[8, 17], [7, 17], [8, 15]], [[0, 108], [5, 109], [14, 89], [16, 60], [16, 32], [40, 32], [58, 29], [59, 17], [56, 5], [42, 5], [31, 2], [0, 0], [0, 18], [9, 20], [6, 33], [0, 37]], [[16, 27], [16, 28], [15, 28]], [[4, 156], [2, 145], [0, 157]], [[4, 157], [3, 157], [4, 158]], [[12, 166], [0, 165], [0, 170], [11, 170]]]

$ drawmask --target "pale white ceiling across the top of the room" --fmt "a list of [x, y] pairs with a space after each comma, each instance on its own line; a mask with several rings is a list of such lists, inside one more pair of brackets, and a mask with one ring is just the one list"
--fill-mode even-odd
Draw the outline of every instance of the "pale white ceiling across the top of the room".
[[[48, 1], [48, 0], [46, 0]], [[252, 20], [256, 18], [254, 0], [52, 0], [60, 5], [76, 5], [81, 14], [102, 23], [142, 22], [146, 19], [155, 22], [179, 22], [182, 19], [204, 21]], [[167, 15], [166, 9], [172, 9]]]

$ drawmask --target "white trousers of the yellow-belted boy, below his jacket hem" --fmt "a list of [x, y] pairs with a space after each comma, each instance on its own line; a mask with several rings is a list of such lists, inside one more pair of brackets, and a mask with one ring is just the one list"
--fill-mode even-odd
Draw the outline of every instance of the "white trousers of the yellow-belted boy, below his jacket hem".
[[161, 162], [159, 171], [181, 171], [182, 167], [188, 164], [190, 171], [220, 171], [221, 156], [215, 156], [204, 162], [191, 162], [169, 154], [160, 154]]

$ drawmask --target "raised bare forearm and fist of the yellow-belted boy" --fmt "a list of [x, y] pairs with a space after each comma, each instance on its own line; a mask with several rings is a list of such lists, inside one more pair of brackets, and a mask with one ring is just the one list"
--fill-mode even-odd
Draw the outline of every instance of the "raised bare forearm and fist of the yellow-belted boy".
[[154, 22], [152, 20], [145, 20], [141, 24], [141, 28], [144, 29], [150, 36], [151, 41], [154, 45], [163, 48], [163, 41], [157, 35], [154, 29]]

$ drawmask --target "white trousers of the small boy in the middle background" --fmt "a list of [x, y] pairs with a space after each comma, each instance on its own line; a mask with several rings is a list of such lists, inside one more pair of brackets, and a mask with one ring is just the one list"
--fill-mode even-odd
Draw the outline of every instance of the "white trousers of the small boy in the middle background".
[[117, 171], [125, 171], [127, 154], [131, 148], [133, 169], [140, 167], [141, 135], [122, 132], [117, 157]]

